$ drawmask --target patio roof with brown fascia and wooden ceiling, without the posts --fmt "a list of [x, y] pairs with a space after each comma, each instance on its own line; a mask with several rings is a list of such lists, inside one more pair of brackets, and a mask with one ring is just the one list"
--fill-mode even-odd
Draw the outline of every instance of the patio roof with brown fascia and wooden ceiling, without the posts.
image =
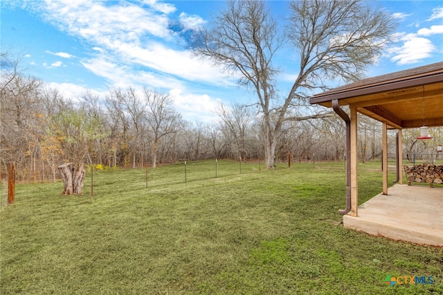
[[392, 128], [443, 126], [443, 62], [360, 80], [310, 102], [332, 107], [334, 99]]

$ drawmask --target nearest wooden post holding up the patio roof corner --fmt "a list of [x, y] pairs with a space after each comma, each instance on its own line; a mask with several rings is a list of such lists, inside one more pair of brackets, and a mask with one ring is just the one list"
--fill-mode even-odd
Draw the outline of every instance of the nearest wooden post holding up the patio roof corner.
[[351, 212], [350, 215], [358, 216], [359, 208], [359, 190], [357, 186], [357, 110], [355, 107], [351, 109]]

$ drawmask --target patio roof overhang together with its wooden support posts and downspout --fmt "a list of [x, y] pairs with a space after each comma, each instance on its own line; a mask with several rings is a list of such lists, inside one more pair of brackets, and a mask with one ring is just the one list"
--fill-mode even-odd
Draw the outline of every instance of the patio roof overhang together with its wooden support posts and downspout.
[[[347, 197], [341, 214], [358, 216], [357, 113], [382, 123], [383, 195], [388, 195], [388, 132], [397, 136], [397, 177], [403, 183], [401, 130], [422, 126], [443, 126], [443, 62], [406, 71], [380, 75], [318, 93], [311, 104], [333, 107], [346, 123]], [[347, 116], [340, 106], [350, 107]]]

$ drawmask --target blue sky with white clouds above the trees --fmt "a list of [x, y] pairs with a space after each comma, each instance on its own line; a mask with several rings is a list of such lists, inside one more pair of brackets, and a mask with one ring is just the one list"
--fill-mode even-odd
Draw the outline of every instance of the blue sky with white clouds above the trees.
[[[397, 43], [368, 68], [373, 77], [443, 61], [442, 1], [372, 1], [399, 21]], [[287, 1], [270, 1], [275, 17]], [[183, 118], [209, 122], [219, 102], [254, 100], [236, 79], [192, 58], [183, 34], [210, 24], [223, 1], [1, 1], [1, 51], [23, 55], [27, 73], [66, 98], [109, 87], [145, 86], [170, 93]], [[284, 55], [287, 56], [287, 55]], [[284, 94], [296, 60], [280, 57]]]

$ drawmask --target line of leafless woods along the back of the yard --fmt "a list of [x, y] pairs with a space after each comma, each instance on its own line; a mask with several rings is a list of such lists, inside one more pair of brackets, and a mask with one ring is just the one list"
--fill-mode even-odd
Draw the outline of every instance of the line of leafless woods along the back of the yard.
[[[250, 107], [219, 105], [213, 123], [184, 120], [168, 93], [151, 89], [109, 89], [100, 97], [86, 92], [69, 99], [42, 80], [25, 75], [19, 61], [2, 54], [0, 81], [1, 175], [15, 162], [17, 179], [60, 178], [57, 167], [141, 168], [199, 159], [264, 161], [266, 126]], [[404, 152], [433, 152], [433, 141], [417, 141], [416, 130], [404, 130]], [[437, 138], [441, 129], [431, 129]], [[359, 118], [359, 158], [378, 159], [381, 125]], [[395, 134], [390, 134], [393, 138]], [[392, 143], [394, 140], [390, 140]], [[393, 148], [391, 152], [394, 152]], [[334, 114], [289, 120], [275, 147], [275, 161], [343, 161], [345, 127]]]

